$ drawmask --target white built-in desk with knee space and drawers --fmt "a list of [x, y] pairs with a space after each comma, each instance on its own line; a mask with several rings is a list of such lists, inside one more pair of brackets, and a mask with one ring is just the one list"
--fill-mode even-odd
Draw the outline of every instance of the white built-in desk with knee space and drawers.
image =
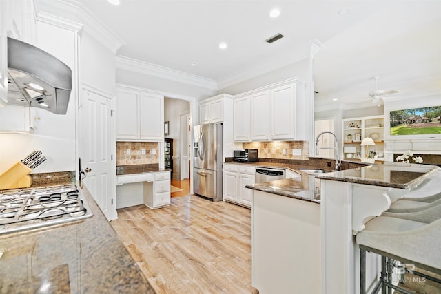
[[157, 209], [170, 205], [170, 171], [116, 178], [116, 208], [145, 204], [150, 209]]

